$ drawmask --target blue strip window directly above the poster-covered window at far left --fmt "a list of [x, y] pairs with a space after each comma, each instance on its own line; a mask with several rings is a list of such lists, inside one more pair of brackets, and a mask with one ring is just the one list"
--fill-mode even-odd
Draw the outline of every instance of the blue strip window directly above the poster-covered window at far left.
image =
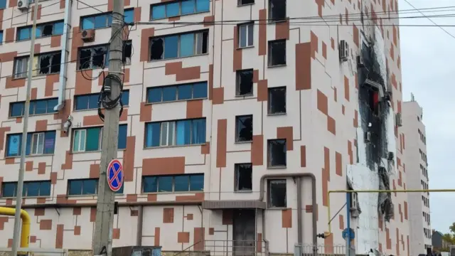
[[[30, 114], [50, 114], [55, 113], [54, 107], [58, 104], [58, 98], [45, 100], [31, 100]], [[26, 102], [12, 102], [9, 104], [9, 117], [22, 117]]]

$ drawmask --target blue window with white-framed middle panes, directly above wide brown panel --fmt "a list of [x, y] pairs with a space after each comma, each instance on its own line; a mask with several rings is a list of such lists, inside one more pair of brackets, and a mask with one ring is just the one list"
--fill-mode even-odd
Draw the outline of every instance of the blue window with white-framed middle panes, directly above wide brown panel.
[[145, 147], [205, 144], [205, 118], [151, 122], [145, 128]]

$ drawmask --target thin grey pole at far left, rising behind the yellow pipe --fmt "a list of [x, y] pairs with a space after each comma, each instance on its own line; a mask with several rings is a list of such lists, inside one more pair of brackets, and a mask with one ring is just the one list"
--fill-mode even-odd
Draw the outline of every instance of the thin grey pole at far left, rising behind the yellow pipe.
[[19, 178], [17, 181], [16, 191], [16, 213], [14, 214], [14, 231], [13, 231], [13, 245], [11, 247], [11, 256], [17, 255], [19, 230], [21, 228], [21, 208], [22, 208], [22, 191], [23, 191], [23, 176], [24, 166], [26, 163], [26, 144], [27, 144], [27, 130], [28, 130], [28, 115], [30, 114], [30, 95], [31, 95], [31, 78], [33, 72], [33, 56], [35, 55], [35, 38], [36, 38], [36, 18], [38, 17], [38, 0], [35, 0], [33, 6], [33, 26], [31, 28], [31, 43], [30, 43], [30, 58], [28, 58], [27, 70], [27, 88], [26, 88], [26, 105], [23, 110], [23, 128], [22, 128], [22, 141], [21, 141], [21, 163], [19, 164]]

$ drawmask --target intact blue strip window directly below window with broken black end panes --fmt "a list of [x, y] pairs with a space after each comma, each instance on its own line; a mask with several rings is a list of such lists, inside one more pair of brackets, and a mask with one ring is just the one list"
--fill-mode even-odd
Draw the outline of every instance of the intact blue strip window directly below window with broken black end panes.
[[172, 102], [207, 98], [207, 82], [147, 88], [147, 102]]

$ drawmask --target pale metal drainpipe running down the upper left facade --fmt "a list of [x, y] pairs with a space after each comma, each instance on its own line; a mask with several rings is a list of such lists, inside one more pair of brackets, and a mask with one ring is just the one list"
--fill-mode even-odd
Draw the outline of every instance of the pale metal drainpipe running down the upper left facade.
[[65, 0], [65, 20], [63, 21], [63, 35], [62, 35], [62, 57], [60, 59], [60, 85], [58, 87], [58, 104], [54, 107], [55, 111], [60, 111], [65, 107], [65, 92], [66, 92], [66, 81], [68, 80], [68, 41], [70, 39], [71, 31], [71, 6], [73, 0]]

